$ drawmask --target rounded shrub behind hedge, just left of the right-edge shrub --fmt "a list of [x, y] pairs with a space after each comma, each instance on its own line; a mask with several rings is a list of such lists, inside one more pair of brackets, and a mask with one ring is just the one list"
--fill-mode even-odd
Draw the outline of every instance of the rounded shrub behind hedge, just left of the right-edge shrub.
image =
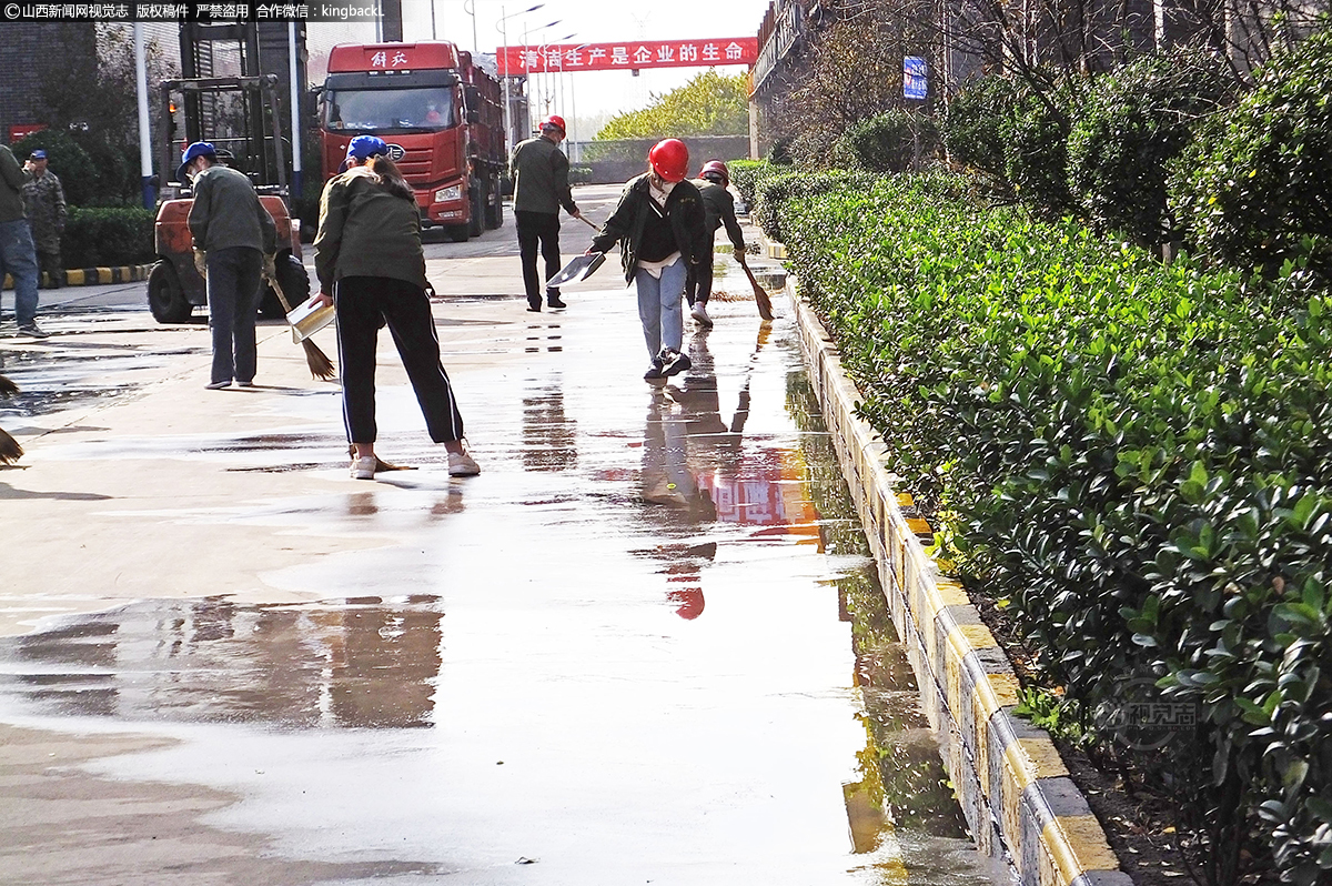
[[1095, 79], [1068, 137], [1068, 180], [1086, 217], [1143, 246], [1173, 240], [1168, 164], [1196, 120], [1232, 101], [1235, 79], [1213, 56], [1144, 57]]

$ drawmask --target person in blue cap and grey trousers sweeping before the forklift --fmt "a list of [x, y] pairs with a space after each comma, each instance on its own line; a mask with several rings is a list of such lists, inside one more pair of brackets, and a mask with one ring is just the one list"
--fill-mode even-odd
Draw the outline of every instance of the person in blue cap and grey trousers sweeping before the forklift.
[[196, 141], [181, 156], [177, 181], [190, 180], [194, 193], [189, 233], [194, 268], [208, 284], [208, 325], [213, 332], [209, 390], [254, 384], [257, 344], [254, 313], [265, 265], [273, 266], [277, 225], [242, 172], [217, 161], [208, 141]]

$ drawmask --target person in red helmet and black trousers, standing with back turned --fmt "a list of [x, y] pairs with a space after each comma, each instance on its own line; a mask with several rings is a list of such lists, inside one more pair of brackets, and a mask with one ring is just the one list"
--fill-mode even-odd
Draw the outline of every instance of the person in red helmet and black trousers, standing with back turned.
[[[518, 220], [518, 254], [527, 310], [541, 310], [542, 277], [537, 274], [537, 248], [546, 260], [545, 280], [559, 273], [559, 207], [581, 219], [569, 191], [569, 157], [559, 149], [565, 140], [563, 117], [551, 115], [541, 123], [541, 135], [519, 141], [509, 159], [513, 176], [513, 215]], [[546, 288], [546, 304], [563, 308], [559, 290]]]

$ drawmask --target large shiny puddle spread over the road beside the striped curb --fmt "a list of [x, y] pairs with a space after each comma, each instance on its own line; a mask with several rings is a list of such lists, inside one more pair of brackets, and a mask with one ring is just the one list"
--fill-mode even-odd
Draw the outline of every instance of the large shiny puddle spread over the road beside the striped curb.
[[[412, 430], [385, 457], [422, 470], [163, 510], [396, 544], [265, 576], [329, 602], [143, 601], [3, 640], [0, 717], [174, 737], [91, 770], [230, 791], [206, 823], [288, 858], [452, 871], [410, 882], [996, 882], [790, 369], [791, 329], [730, 320], [657, 389], [641, 356], [634, 385], [485, 377], [470, 484], [436, 466], [409, 392], [389, 390], [386, 418]], [[561, 330], [570, 353], [597, 334]], [[201, 437], [194, 454], [322, 464], [333, 442]]]

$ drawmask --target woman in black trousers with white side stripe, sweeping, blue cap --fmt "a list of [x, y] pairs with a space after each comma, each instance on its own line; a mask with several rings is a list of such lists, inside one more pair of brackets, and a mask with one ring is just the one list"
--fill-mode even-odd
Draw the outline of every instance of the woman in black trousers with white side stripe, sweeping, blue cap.
[[354, 450], [352, 477], [372, 480], [380, 464], [374, 454], [374, 353], [385, 324], [430, 438], [449, 452], [449, 476], [472, 477], [481, 468], [462, 441], [462, 414], [440, 362], [416, 196], [388, 152], [382, 139], [352, 140], [345, 172], [324, 187], [314, 238], [317, 298], [337, 306], [342, 417]]

